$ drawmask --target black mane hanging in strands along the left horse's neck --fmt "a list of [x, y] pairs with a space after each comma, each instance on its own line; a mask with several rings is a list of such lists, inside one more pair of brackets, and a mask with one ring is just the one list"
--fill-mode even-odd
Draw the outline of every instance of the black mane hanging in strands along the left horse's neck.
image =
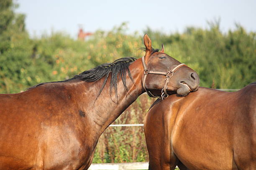
[[[130, 79], [133, 81], [133, 78], [131, 77], [131, 72], [129, 70], [129, 65], [134, 62], [136, 58], [134, 57], [124, 57], [120, 58], [118, 60], [115, 60], [112, 63], [105, 63], [101, 64], [95, 68], [92, 68], [91, 70], [86, 70], [79, 75], [75, 75], [74, 77], [63, 80], [63, 81], [55, 81], [55, 82], [67, 82], [69, 80], [78, 80], [78, 81], [85, 81], [85, 82], [94, 82], [97, 80], [100, 80], [102, 77], [105, 76], [104, 82], [101, 86], [101, 89], [99, 91], [99, 94], [96, 97], [97, 98], [100, 96], [100, 93], [102, 92], [103, 88], [105, 87], [105, 84], [107, 82], [108, 76], [111, 72], [111, 80], [110, 80], [110, 95], [112, 94], [112, 90], [115, 90], [115, 96], [118, 97], [117, 93], [117, 82], [118, 79], [121, 77], [122, 82], [123, 82], [123, 87], [124, 90], [128, 91], [128, 87], [126, 86], [126, 73], [128, 72], [128, 75]], [[27, 90], [38, 87], [40, 85], [44, 84], [49, 84], [49, 83], [54, 83], [54, 82], [43, 82], [38, 85], [35, 85], [33, 87], [28, 88]]]

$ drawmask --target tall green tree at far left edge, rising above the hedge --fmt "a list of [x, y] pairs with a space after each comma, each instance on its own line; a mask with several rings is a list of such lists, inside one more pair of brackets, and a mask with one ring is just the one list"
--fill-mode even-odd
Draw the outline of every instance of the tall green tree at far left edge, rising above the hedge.
[[[25, 15], [14, 13], [18, 5], [13, 0], [0, 0], [0, 88], [10, 92], [30, 49], [28, 33], [25, 30]], [[15, 61], [15, 62], [14, 62]]]

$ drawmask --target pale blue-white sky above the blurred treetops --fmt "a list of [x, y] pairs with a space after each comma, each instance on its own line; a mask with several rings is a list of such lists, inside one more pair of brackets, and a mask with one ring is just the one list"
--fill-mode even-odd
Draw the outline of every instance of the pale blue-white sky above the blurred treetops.
[[227, 32], [235, 23], [256, 31], [256, 0], [16, 0], [16, 12], [26, 14], [31, 36], [51, 31], [76, 37], [79, 25], [86, 32], [111, 30], [123, 22], [128, 33], [147, 27], [165, 33], [183, 32], [188, 26], [209, 28], [207, 21], [220, 18]]

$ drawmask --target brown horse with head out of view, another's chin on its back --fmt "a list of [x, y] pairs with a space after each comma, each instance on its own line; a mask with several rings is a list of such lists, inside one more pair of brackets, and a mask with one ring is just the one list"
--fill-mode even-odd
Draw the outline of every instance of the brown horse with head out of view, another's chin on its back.
[[256, 170], [256, 83], [156, 100], [144, 123], [149, 170]]

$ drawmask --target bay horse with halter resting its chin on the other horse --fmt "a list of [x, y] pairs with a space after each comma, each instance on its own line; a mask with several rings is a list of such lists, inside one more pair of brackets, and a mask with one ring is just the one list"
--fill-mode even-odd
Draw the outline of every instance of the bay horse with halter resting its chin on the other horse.
[[143, 40], [146, 54], [137, 60], [1, 94], [0, 170], [87, 170], [100, 135], [143, 92], [165, 98], [198, 89], [194, 70]]

